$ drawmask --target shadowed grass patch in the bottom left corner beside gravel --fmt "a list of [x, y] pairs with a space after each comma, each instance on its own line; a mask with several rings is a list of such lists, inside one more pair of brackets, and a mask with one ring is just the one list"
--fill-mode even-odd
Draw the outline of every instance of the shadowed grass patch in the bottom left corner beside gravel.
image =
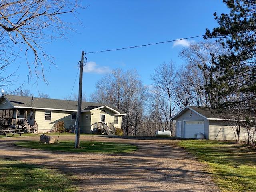
[[20, 161], [0, 160], [1, 192], [76, 192], [70, 176]]

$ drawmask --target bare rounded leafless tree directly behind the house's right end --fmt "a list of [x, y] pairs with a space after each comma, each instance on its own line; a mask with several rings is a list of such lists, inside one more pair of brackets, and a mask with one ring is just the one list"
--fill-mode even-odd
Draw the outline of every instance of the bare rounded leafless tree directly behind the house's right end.
[[112, 70], [96, 83], [91, 98], [94, 102], [112, 104], [127, 114], [122, 118], [124, 134], [139, 133], [144, 111], [144, 86], [137, 71]]

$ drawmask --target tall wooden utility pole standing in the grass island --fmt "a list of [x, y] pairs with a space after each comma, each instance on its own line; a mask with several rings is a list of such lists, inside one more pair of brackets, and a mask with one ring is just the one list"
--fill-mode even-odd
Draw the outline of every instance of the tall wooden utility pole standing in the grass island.
[[76, 119], [76, 140], [75, 148], [79, 148], [80, 145], [80, 122], [81, 122], [81, 105], [82, 105], [82, 82], [83, 82], [83, 68], [84, 68], [84, 51], [82, 51], [80, 61], [80, 75], [79, 75], [79, 92], [78, 92], [78, 108]]

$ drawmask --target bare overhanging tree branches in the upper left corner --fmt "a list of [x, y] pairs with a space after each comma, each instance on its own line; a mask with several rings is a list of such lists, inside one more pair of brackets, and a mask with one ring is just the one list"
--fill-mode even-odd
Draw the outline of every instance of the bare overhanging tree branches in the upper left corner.
[[[0, 2], [0, 61], [6, 64], [14, 61], [20, 52], [26, 57], [29, 76], [39, 78], [38, 67], [44, 80], [44, 65], [54, 64], [53, 58], [42, 48], [42, 44], [54, 38], [64, 38], [71, 30], [64, 20], [63, 14], [74, 14], [78, 3], [66, 0], [21, 0]], [[2, 49], [3, 48], [3, 49]], [[33, 60], [29, 60], [30, 56]], [[1, 69], [1, 67], [0, 67]]]

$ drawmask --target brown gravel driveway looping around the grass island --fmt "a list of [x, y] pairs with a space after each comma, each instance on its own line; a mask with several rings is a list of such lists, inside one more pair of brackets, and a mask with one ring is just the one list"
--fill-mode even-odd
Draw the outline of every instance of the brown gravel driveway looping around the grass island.
[[[204, 166], [179, 148], [177, 140], [145, 137], [81, 136], [81, 140], [125, 142], [138, 146], [128, 154], [76, 154], [21, 148], [18, 140], [0, 138], [0, 158], [11, 158], [57, 168], [76, 177], [81, 192], [217, 192]], [[74, 136], [60, 136], [74, 140]]]

